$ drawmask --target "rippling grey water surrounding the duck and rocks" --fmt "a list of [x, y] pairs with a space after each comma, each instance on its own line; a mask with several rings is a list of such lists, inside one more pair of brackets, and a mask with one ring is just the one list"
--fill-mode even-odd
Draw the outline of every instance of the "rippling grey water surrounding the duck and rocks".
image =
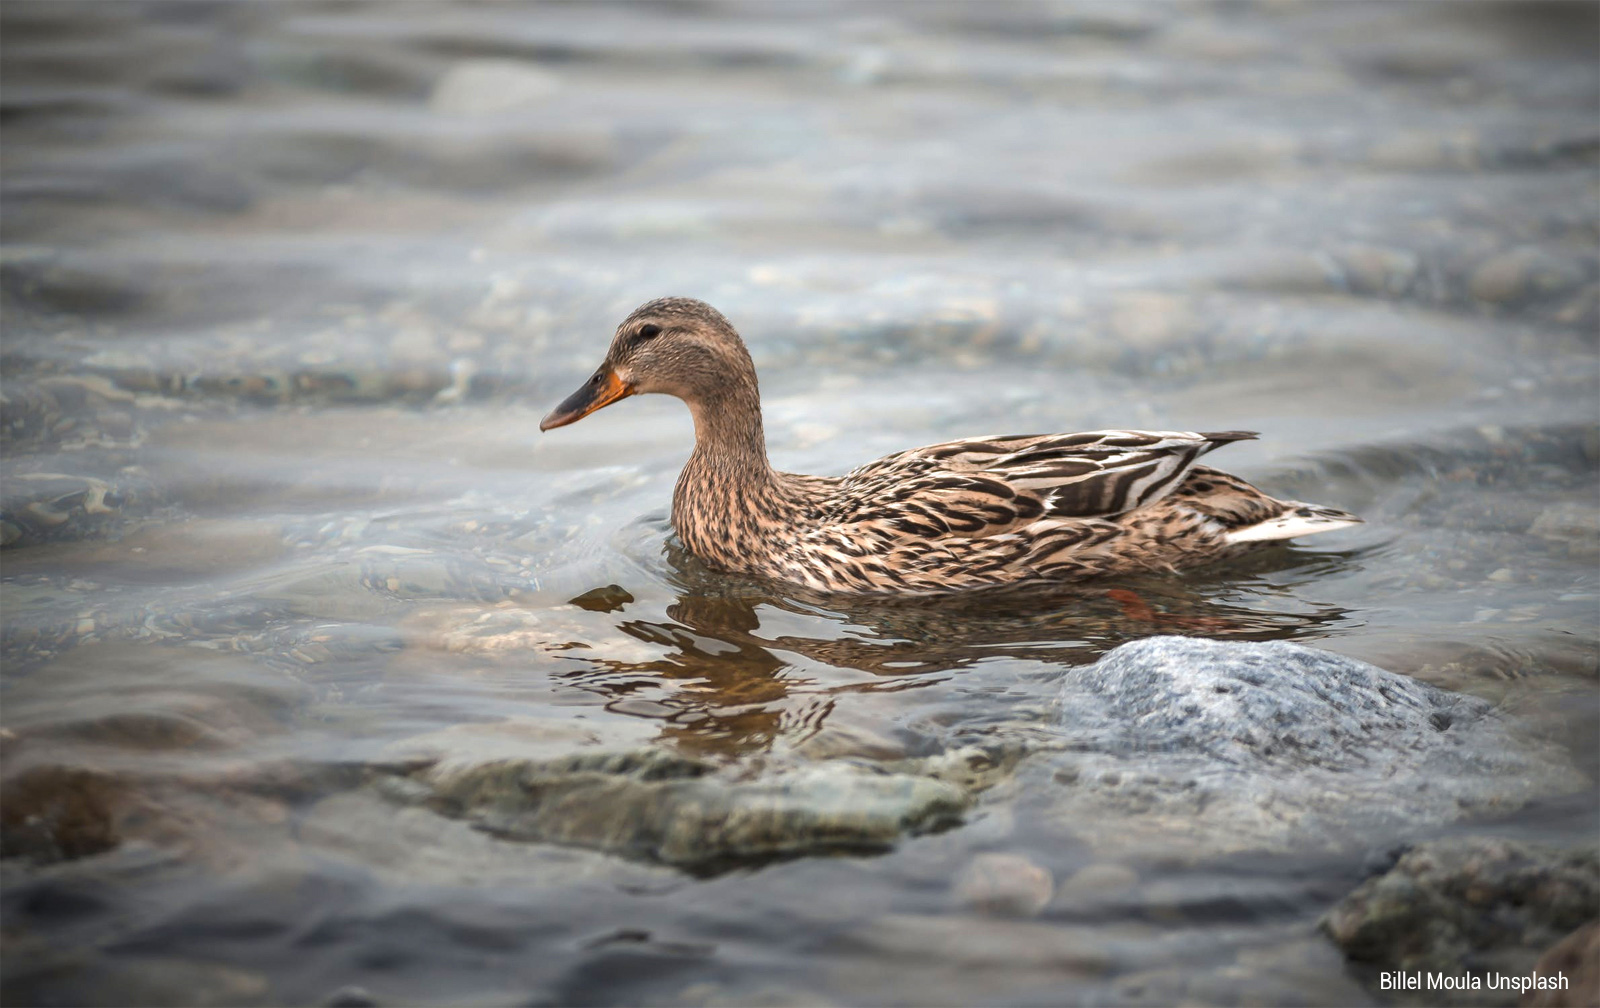
[[[1162, 632], [1475, 693], [1594, 781], [1589, 6], [3, 21], [8, 1000], [1370, 997], [1315, 931], [1362, 845], [1118, 850], [1037, 757], [958, 827], [693, 872], [382, 784], [1048, 744], [1064, 669]], [[662, 294], [746, 334], [786, 469], [1243, 427], [1219, 466], [1368, 523], [931, 605], [718, 576], [666, 522], [677, 402], [538, 432]], [[1373, 843], [1592, 838], [1592, 790]], [[1037, 917], [974, 909], [982, 853], [1048, 872]]]

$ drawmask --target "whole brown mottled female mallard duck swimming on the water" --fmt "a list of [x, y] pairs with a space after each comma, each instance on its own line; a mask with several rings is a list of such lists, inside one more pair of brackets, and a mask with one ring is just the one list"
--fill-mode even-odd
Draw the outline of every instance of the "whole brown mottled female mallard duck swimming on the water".
[[824, 592], [958, 592], [1214, 560], [1360, 522], [1277, 501], [1195, 466], [1250, 430], [1090, 430], [912, 448], [842, 477], [766, 461], [755, 365], [717, 309], [643, 304], [605, 363], [539, 424], [562, 427], [640, 392], [677, 395], [694, 453], [672, 525], [706, 563]]

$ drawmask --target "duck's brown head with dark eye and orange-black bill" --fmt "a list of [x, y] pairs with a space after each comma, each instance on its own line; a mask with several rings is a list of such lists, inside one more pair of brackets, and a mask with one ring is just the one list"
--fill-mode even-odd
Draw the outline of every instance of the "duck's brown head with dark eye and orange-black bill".
[[645, 392], [677, 395], [698, 418], [706, 405], [754, 389], [750, 352], [722, 312], [693, 298], [661, 298], [616, 326], [605, 362], [539, 421], [539, 430], [565, 427]]

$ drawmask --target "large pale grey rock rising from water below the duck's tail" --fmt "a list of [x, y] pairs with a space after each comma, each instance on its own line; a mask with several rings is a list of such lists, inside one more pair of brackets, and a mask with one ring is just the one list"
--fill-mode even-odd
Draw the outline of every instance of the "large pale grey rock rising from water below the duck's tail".
[[1058, 720], [1056, 816], [1118, 850], [1344, 846], [1584, 786], [1486, 701], [1285, 642], [1122, 645], [1067, 674]]

